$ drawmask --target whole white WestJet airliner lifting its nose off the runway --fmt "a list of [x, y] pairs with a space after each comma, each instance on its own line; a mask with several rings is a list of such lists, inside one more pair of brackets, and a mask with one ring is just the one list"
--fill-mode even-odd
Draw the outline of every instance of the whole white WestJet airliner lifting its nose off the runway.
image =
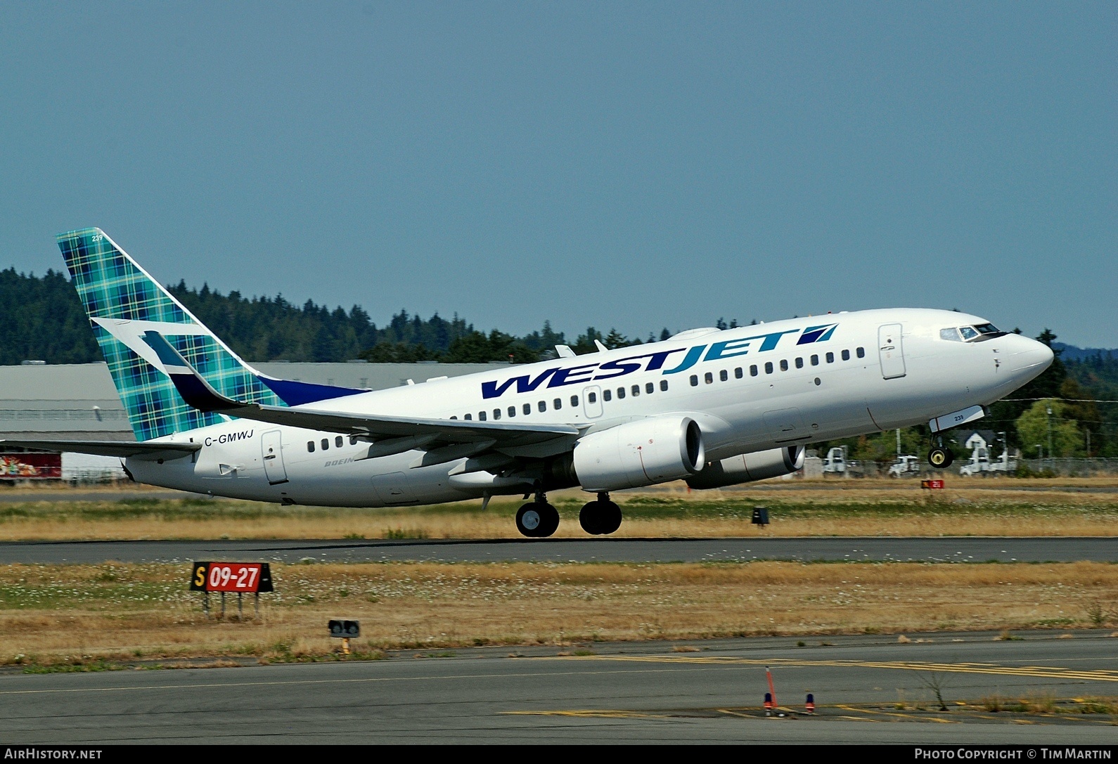
[[[280, 380], [241, 361], [103, 231], [58, 237], [136, 442], [7, 441], [119, 456], [140, 483], [283, 504], [383, 507], [534, 495], [517, 514], [550, 536], [548, 490], [580, 486], [590, 534], [609, 491], [714, 488], [787, 475], [804, 446], [973, 422], [1052, 351], [949, 311], [878, 309], [731, 330], [392, 390]], [[950, 464], [938, 442], [934, 467]]]

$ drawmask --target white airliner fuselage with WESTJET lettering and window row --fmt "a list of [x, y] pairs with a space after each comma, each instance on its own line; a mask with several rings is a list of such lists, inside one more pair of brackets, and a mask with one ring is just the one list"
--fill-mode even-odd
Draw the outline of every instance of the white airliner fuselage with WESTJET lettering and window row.
[[[1051, 351], [1027, 337], [960, 342], [940, 335], [944, 328], [984, 323], [955, 312], [897, 308], [697, 330], [660, 343], [501, 366], [300, 408], [562, 423], [582, 434], [683, 413], [699, 423], [711, 461], [927, 423], [989, 404], [1048, 367]], [[202, 448], [162, 464], [130, 458], [126, 467], [136, 480], [328, 506], [434, 504], [502, 493], [489, 472], [461, 474], [464, 458], [430, 466], [419, 466], [423, 452], [415, 450], [363, 458], [368, 441], [335, 432], [236, 419], [160, 440], [189, 440]], [[555, 456], [577, 448], [577, 441], [559, 437], [511, 455]]]

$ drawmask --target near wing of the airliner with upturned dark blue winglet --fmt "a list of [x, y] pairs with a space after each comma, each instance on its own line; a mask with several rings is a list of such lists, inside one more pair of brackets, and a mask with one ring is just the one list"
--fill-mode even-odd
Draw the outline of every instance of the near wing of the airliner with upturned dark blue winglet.
[[286, 408], [243, 403], [226, 398], [191, 366], [158, 332], [146, 332], [146, 342], [159, 355], [168, 376], [182, 399], [199, 411], [240, 417], [258, 422], [288, 424], [309, 430], [324, 430], [372, 440], [410, 438], [426, 445], [490, 443], [493, 448], [521, 447], [578, 436], [579, 429], [568, 424], [520, 424], [512, 422], [475, 422], [458, 419], [418, 419], [321, 411], [300, 407]]

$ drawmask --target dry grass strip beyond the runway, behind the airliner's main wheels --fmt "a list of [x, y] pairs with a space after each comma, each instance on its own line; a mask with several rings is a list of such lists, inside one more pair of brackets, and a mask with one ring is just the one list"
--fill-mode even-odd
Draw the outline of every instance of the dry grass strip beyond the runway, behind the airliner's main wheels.
[[[689, 493], [682, 484], [618, 493], [625, 522], [616, 535], [680, 536], [1114, 536], [1118, 480], [948, 479], [945, 490], [915, 480], [770, 480], [733, 490]], [[135, 487], [130, 487], [134, 490]], [[35, 489], [23, 490], [28, 497]], [[231, 499], [127, 499], [0, 504], [0, 541], [89, 538], [518, 538], [515, 497], [432, 507], [282, 507]], [[559, 537], [581, 537], [578, 490], [549, 496]], [[771, 524], [750, 524], [752, 507]]]

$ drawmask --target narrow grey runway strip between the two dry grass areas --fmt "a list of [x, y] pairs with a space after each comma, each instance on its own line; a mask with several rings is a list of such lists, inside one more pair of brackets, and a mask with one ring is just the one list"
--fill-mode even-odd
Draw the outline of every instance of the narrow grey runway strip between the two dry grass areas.
[[1115, 537], [541, 538], [480, 541], [6, 542], [0, 564], [184, 562], [748, 560], [919, 562], [1118, 562]]

